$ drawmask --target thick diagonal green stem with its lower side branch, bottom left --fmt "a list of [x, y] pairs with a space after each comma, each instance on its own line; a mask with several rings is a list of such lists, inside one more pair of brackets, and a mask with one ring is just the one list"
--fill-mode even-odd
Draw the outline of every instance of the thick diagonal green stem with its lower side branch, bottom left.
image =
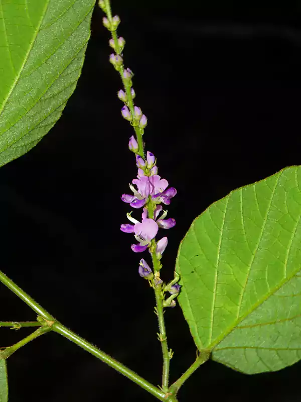
[[[15, 350], [19, 349], [21, 346], [25, 345], [26, 343], [30, 342], [31, 340], [37, 338], [42, 333], [47, 331], [55, 331], [60, 335], [64, 336], [65, 338], [71, 340], [72, 342], [76, 343], [78, 346], [86, 350], [87, 352], [91, 353], [92, 355], [98, 357], [100, 360], [108, 364], [110, 367], [113, 367], [115, 370], [119, 371], [125, 377], [129, 378], [140, 387], [144, 388], [146, 391], [151, 393], [152, 395], [156, 396], [158, 399], [163, 401], [171, 401], [173, 399], [166, 398], [166, 393], [163, 392], [161, 389], [157, 388], [155, 385], [150, 384], [144, 378], [140, 377], [134, 371], [130, 370], [128, 367], [124, 366], [122, 363], [119, 363], [117, 360], [113, 359], [100, 349], [93, 346], [91, 343], [85, 341], [83, 338], [79, 337], [72, 331], [68, 330], [62, 324], [55, 320], [53, 316], [51, 316], [46, 310], [44, 310], [35, 300], [30, 297], [24, 290], [21, 289], [16, 283], [14, 283], [11, 279], [9, 279], [3, 272], [0, 271], [0, 281], [4, 283], [10, 290], [12, 290], [18, 297], [23, 300], [29, 307], [32, 308], [37, 314], [44, 318], [46, 324], [42, 327], [38, 328], [34, 333], [29, 335], [27, 338], [23, 339], [22, 341], [18, 342], [16, 345], [7, 348], [5, 351], [1, 352], [1, 357], [6, 358], [6, 354], [12, 354]], [[5, 356], [5, 357], [4, 357]]]

